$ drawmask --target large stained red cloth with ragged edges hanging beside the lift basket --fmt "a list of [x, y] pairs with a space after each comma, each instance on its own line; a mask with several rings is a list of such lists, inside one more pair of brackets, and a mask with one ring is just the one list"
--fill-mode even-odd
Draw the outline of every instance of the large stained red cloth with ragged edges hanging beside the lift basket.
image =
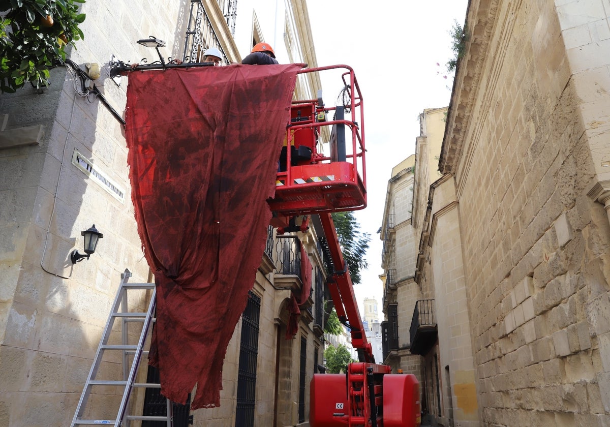
[[178, 403], [220, 405], [226, 347], [265, 248], [303, 64], [135, 71], [126, 139], [138, 233], [157, 285], [149, 362]]

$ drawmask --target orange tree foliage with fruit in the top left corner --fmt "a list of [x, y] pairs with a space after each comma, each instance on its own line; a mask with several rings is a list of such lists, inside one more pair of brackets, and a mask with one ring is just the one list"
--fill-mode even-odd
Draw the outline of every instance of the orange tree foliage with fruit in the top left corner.
[[66, 59], [66, 45], [84, 38], [78, 13], [85, 0], [0, 0], [0, 91], [31, 82], [48, 86], [49, 69]]

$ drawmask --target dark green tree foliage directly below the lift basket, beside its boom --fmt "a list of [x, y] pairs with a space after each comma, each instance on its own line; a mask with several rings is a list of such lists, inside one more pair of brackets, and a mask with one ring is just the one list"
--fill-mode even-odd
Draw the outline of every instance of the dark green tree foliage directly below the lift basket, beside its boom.
[[350, 270], [351, 281], [353, 284], [358, 284], [361, 281], [360, 271], [368, 267], [364, 256], [371, 236], [360, 231], [360, 224], [357, 223], [352, 212], [332, 213], [332, 220], [337, 228], [341, 252]]

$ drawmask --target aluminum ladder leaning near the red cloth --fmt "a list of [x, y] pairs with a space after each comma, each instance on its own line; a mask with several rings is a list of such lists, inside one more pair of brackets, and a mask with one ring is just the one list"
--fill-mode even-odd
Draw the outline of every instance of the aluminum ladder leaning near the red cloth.
[[[142, 356], [148, 354], [148, 351], [144, 350], [146, 337], [148, 336], [149, 329], [154, 323], [155, 319], [154, 311], [156, 306], [156, 290], [154, 283], [127, 283], [131, 277], [131, 272], [125, 270], [121, 273], [121, 284], [117, 291], [117, 296], [112, 304], [112, 310], [106, 322], [104, 332], [98, 345], [98, 350], [93, 358], [93, 364], [91, 364], [91, 370], [87, 376], [87, 382], [82, 390], [81, 399], [74, 412], [74, 418], [71, 423], [71, 427], [82, 426], [82, 425], [114, 425], [115, 427], [128, 427], [131, 420], [141, 421], [163, 421], [167, 422], [167, 426], [172, 426], [172, 403], [167, 400], [167, 416], [152, 416], [152, 415], [129, 415], [127, 414], [127, 408], [129, 405], [129, 397], [133, 387], [142, 388], [160, 388], [160, 384], [147, 384], [135, 382], [135, 377], [138, 372], [138, 367]], [[150, 303], [146, 312], [129, 312], [127, 306], [127, 293], [130, 290], [152, 290]], [[121, 344], [120, 345], [109, 345], [110, 333], [115, 320], [121, 319]], [[127, 325], [129, 323], [142, 323], [142, 331], [140, 332], [140, 339], [137, 345], [129, 344], [129, 334], [127, 331]], [[104, 352], [121, 352], [123, 359], [123, 379], [121, 381], [104, 380], [98, 379], [98, 370], [102, 362], [102, 356]], [[116, 353], [115, 353], [116, 354]], [[130, 356], [133, 356], [133, 360], [130, 363]], [[87, 402], [91, 395], [91, 390], [95, 386], [119, 386], [123, 387], [123, 398], [121, 398], [120, 406], [118, 407], [117, 416], [110, 420], [100, 419], [84, 419], [82, 418]], [[91, 408], [92, 409], [92, 408]]]

